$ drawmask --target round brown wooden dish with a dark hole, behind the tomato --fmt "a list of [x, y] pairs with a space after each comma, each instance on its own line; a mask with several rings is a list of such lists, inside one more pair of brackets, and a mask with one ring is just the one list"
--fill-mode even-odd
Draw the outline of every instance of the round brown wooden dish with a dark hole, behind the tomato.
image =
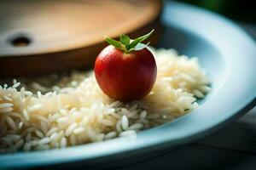
[[104, 48], [103, 35], [160, 34], [160, 0], [3, 1], [0, 77], [29, 77], [88, 68]]

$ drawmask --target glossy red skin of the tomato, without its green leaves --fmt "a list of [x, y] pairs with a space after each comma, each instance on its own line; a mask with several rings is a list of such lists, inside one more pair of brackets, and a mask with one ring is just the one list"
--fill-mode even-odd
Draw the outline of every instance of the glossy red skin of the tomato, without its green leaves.
[[113, 99], [143, 99], [154, 86], [156, 64], [148, 48], [125, 54], [112, 45], [95, 62], [95, 76], [102, 91]]

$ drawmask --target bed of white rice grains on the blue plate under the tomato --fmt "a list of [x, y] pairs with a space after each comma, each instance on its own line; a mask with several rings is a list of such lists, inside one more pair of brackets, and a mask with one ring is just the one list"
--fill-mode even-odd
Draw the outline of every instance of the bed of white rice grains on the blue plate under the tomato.
[[93, 72], [0, 81], [0, 152], [133, 139], [195, 110], [196, 99], [211, 90], [198, 59], [173, 49], [152, 50], [158, 66], [154, 88], [131, 103], [103, 94]]

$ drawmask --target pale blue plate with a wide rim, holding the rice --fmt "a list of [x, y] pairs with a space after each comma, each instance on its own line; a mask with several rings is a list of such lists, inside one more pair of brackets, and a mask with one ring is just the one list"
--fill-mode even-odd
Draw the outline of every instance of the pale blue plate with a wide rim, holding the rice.
[[230, 20], [183, 3], [166, 3], [161, 19], [165, 31], [160, 47], [197, 56], [211, 79], [212, 92], [197, 110], [138, 133], [137, 139], [1, 155], [0, 167], [114, 164], [205, 137], [255, 105], [256, 46], [251, 37]]

